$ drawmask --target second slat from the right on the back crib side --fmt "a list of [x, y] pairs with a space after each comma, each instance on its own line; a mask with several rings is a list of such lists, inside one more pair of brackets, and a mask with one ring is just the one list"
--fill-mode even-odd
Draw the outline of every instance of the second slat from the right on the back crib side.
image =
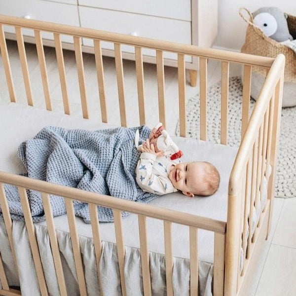
[[222, 62], [222, 92], [221, 92], [221, 144], [227, 145], [228, 136], [228, 89], [229, 62]]

